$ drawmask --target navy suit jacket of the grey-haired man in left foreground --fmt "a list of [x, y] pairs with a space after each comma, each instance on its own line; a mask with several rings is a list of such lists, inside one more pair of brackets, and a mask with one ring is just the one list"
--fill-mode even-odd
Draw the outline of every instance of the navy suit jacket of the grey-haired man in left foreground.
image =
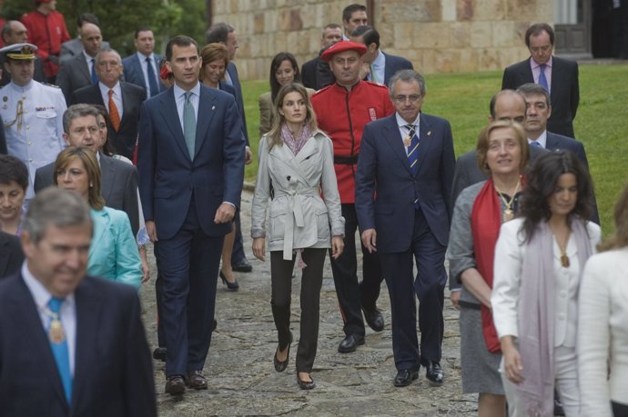
[[16, 273], [0, 281], [0, 415], [157, 415], [135, 289], [86, 276], [75, 299], [75, 371], [68, 404], [24, 278]]

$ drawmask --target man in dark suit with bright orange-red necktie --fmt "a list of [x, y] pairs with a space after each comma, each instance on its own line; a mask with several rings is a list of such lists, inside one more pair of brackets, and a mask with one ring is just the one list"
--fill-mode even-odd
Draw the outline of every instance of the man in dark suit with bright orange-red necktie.
[[114, 50], [100, 51], [96, 55], [98, 84], [80, 88], [72, 94], [70, 104], [101, 104], [109, 113], [107, 131], [116, 154], [133, 159], [137, 141], [139, 106], [147, 93], [136, 84], [120, 81], [122, 60]]

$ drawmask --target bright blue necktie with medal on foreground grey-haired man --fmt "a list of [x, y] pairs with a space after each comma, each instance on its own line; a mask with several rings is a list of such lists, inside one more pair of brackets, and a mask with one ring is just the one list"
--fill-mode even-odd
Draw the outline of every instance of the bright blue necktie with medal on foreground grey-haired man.
[[55, 357], [56, 369], [59, 371], [61, 383], [64, 392], [66, 392], [66, 400], [69, 404], [72, 400], [72, 374], [70, 373], [70, 354], [67, 348], [66, 332], [59, 317], [61, 304], [64, 302], [61, 298], [52, 297], [48, 302], [48, 310], [50, 313], [50, 323], [48, 324], [48, 341], [50, 349]]

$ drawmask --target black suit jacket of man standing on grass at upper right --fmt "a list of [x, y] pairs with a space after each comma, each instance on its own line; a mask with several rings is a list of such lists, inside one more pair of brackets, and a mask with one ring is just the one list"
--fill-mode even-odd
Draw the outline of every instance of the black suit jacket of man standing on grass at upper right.
[[[533, 83], [530, 58], [509, 66], [503, 72], [501, 89], [516, 90], [522, 84]], [[573, 119], [580, 103], [578, 64], [575, 61], [552, 57], [552, 84], [550, 87], [552, 115], [547, 121], [547, 130], [567, 137], [573, 134]]]

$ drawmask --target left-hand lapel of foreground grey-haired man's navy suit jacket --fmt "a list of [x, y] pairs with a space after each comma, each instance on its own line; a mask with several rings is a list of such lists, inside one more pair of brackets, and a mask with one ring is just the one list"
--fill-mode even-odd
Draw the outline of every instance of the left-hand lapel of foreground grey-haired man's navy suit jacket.
[[[63, 389], [61, 376], [59, 376], [59, 372], [56, 369], [55, 357], [50, 349], [50, 342], [39, 317], [35, 300], [33, 300], [33, 296], [28, 290], [22, 274], [20, 274], [17, 281], [12, 302], [14, 305], [11, 311], [15, 313], [16, 317], [20, 317], [25, 325], [25, 330], [27, 330], [20, 336], [20, 339], [29, 345], [28, 349], [33, 350], [34, 360], [41, 363], [42, 366], [41, 377], [50, 384], [58, 397], [58, 401], [67, 407], [66, 393]], [[42, 389], [45, 388], [42, 387]]]

